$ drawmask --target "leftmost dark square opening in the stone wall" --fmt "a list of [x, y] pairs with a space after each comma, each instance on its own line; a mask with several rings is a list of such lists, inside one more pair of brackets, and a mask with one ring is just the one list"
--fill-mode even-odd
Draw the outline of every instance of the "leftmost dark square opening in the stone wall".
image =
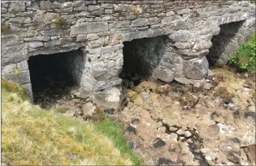
[[49, 106], [70, 95], [70, 88], [79, 86], [84, 56], [82, 51], [40, 54], [28, 58], [34, 103]]

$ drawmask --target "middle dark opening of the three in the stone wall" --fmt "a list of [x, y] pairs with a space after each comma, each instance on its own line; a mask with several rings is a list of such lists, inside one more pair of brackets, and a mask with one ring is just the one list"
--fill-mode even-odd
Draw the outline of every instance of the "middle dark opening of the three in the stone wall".
[[123, 83], [132, 81], [134, 85], [140, 80], [147, 80], [153, 73], [162, 57], [167, 36], [133, 39], [124, 42], [124, 66], [120, 77]]

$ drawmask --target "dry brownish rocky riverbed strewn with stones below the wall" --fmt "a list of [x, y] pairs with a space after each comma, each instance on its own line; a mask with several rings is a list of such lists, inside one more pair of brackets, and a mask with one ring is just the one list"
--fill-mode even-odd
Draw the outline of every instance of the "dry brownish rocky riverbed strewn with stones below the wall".
[[51, 107], [88, 121], [103, 120], [102, 112], [123, 121], [127, 144], [146, 165], [255, 165], [255, 76], [212, 71], [204, 85], [124, 80], [119, 111], [73, 95]]

